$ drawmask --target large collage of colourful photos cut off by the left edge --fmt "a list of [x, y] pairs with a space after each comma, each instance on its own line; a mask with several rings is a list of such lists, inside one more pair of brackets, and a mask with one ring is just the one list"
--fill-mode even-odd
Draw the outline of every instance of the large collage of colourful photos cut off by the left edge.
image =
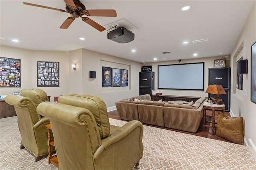
[[20, 59], [0, 57], [0, 87], [21, 87]]

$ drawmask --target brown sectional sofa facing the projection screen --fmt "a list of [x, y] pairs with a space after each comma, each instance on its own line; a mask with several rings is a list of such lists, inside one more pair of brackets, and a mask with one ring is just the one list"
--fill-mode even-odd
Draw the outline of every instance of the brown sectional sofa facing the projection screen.
[[138, 120], [149, 125], [196, 132], [203, 117], [201, 97], [197, 101], [151, 101], [150, 95], [140, 95], [116, 102], [120, 119]]

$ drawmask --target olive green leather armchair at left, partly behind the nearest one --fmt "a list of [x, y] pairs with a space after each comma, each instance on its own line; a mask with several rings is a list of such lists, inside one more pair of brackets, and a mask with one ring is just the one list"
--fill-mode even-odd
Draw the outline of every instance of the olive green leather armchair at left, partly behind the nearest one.
[[[17, 114], [21, 136], [20, 149], [26, 148], [36, 156], [35, 162], [48, 154], [48, 130], [45, 125], [50, 121], [36, 112], [36, 106], [49, 101], [41, 89], [24, 89], [20, 95], [7, 95], [5, 102], [13, 105]], [[52, 148], [55, 152], [54, 148]]]

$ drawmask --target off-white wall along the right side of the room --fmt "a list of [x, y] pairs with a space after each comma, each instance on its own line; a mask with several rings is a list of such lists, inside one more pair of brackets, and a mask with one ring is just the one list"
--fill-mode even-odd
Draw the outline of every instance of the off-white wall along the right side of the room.
[[[244, 59], [248, 59], [248, 74], [243, 75], [243, 90], [235, 89], [236, 76], [232, 76], [232, 91], [231, 91], [231, 106], [230, 112], [234, 116], [241, 115], [244, 118], [244, 136], [245, 143], [248, 144], [254, 157], [256, 158], [256, 104], [250, 101], [251, 93], [251, 45], [256, 41], [256, 3], [252, 7], [250, 14], [244, 24], [244, 27], [240, 33], [240, 36], [236, 42], [236, 46], [231, 53], [231, 64], [235, 66], [236, 61], [244, 56]], [[243, 50], [236, 56], [240, 44], [244, 44]], [[255, 66], [254, 66], [255, 67]], [[235, 67], [231, 68], [231, 72], [234, 75], [236, 73]]]

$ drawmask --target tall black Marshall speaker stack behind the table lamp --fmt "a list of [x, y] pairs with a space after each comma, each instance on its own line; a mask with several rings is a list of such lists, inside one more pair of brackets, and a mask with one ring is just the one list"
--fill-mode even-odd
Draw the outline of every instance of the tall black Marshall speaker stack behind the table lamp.
[[[225, 104], [225, 111], [230, 111], [230, 67], [224, 68], [209, 68], [209, 85], [222, 85], [226, 91], [225, 95], [219, 95]], [[208, 94], [208, 97], [216, 98], [216, 95]]]

